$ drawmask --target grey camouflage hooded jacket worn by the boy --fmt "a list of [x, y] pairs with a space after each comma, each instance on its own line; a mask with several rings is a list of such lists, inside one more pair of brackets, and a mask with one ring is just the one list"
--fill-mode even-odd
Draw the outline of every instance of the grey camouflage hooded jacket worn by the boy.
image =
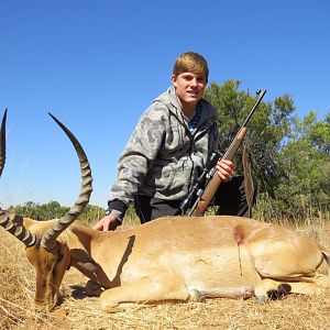
[[187, 196], [218, 144], [216, 111], [206, 99], [199, 102], [202, 111], [191, 134], [174, 87], [153, 100], [119, 158], [109, 209], [124, 212], [136, 194], [165, 200]]

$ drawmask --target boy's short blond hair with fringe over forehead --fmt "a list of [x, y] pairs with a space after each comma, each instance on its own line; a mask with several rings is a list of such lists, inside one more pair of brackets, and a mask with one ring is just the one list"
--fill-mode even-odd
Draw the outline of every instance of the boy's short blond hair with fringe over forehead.
[[187, 52], [179, 55], [173, 67], [173, 75], [183, 73], [202, 73], [208, 81], [209, 67], [207, 61], [199, 54]]

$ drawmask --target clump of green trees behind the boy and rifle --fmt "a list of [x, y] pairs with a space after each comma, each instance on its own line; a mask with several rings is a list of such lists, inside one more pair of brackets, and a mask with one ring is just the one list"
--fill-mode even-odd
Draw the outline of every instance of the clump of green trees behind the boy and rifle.
[[[256, 96], [241, 91], [240, 80], [210, 84], [206, 98], [217, 109], [219, 147], [226, 151]], [[249, 123], [245, 138], [258, 200], [268, 215], [296, 218], [330, 209], [330, 113], [318, 120], [316, 112], [304, 119], [295, 114], [289, 95], [261, 102]], [[239, 170], [240, 158], [235, 160]]]

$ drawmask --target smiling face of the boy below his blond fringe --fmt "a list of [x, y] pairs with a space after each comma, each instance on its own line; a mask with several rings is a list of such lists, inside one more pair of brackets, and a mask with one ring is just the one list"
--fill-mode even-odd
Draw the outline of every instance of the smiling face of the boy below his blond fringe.
[[196, 106], [204, 94], [207, 79], [202, 73], [182, 73], [172, 76], [172, 84], [183, 105]]

